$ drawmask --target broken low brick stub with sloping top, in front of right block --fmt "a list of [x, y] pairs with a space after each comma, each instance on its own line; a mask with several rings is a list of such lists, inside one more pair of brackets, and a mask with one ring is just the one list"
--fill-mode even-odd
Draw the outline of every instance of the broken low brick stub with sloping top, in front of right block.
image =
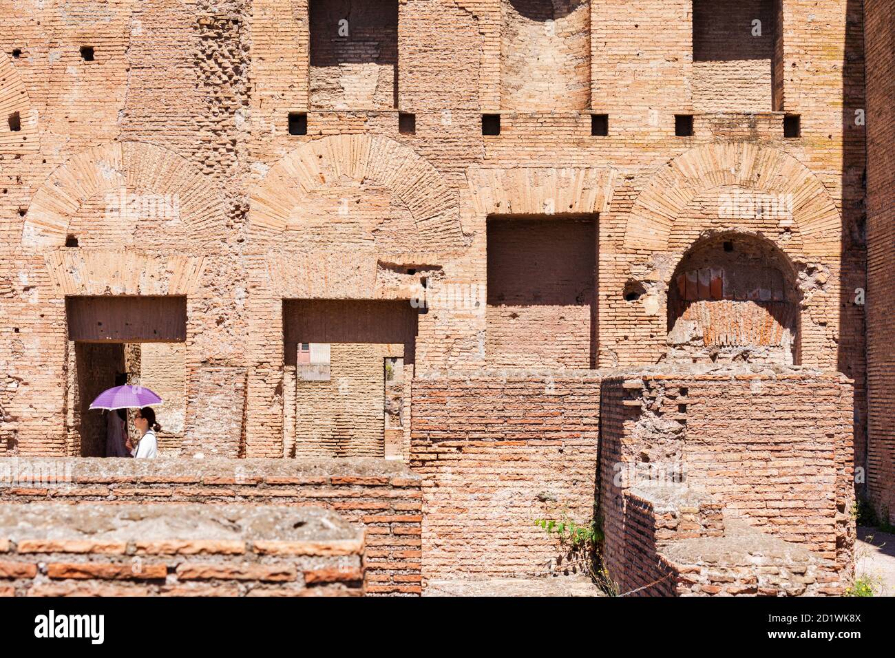
[[[721, 510], [711, 495], [683, 484], [644, 483], [628, 489], [620, 542], [624, 562], [610, 568], [619, 594], [843, 594], [844, 574], [834, 560], [742, 519], [725, 519]], [[616, 537], [608, 542], [619, 543]]]

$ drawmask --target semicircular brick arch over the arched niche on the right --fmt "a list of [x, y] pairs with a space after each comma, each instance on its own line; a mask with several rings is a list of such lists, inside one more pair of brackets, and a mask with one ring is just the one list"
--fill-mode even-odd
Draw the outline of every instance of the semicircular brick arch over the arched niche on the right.
[[724, 185], [791, 195], [805, 254], [839, 255], [840, 212], [820, 180], [788, 153], [749, 142], [706, 144], [669, 160], [628, 215], [626, 249], [667, 251], [681, 211], [698, 194]]

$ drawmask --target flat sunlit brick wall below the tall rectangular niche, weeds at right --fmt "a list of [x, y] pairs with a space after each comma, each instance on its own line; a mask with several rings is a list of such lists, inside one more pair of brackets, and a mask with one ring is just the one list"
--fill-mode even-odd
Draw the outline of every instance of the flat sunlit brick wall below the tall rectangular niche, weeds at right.
[[593, 371], [413, 380], [424, 577], [561, 573], [562, 551], [534, 521], [592, 517], [599, 404]]

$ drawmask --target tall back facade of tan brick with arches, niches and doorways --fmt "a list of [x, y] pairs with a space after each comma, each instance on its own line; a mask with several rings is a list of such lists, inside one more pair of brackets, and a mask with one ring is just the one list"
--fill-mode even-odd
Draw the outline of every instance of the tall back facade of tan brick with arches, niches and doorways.
[[[802, 360], [859, 382], [860, 434], [863, 308], [850, 299], [864, 283], [863, 129], [843, 124], [863, 107], [855, 3], [784, 0], [774, 57], [785, 101], [774, 112], [712, 106], [695, 93], [694, 15], [696, 28], [705, 24], [689, 0], [556, 4], [556, 36], [520, 2], [397, 5], [395, 39], [393, 19], [373, 17], [365, 25], [382, 30], [349, 25], [348, 41], [394, 43], [398, 106], [416, 114], [415, 134], [398, 132], [389, 107], [314, 107], [312, 70], [329, 67], [311, 65], [316, 10], [304, 0], [128, 0], [36, 13], [0, 3], [4, 107], [23, 117], [21, 134], [0, 134], [0, 359], [28, 383], [4, 406], [15, 427], [4, 451], [65, 451], [66, 295], [168, 295], [187, 297], [184, 452], [282, 455], [284, 299], [406, 299], [406, 272], [423, 266], [481, 289], [487, 218], [541, 214], [550, 202], [600, 213], [589, 366], [655, 363], [667, 347], [669, 278], [686, 249], [720, 225], [762, 230], [808, 280], [823, 277], [802, 311]], [[764, 15], [762, 4], [744, 6]], [[373, 11], [364, 7], [352, 11]], [[509, 50], [532, 53], [514, 71], [542, 71], [574, 49], [573, 65], [551, 71], [567, 90], [588, 82], [609, 136], [591, 135], [576, 87], [549, 90], [550, 103], [537, 91], [536, 108], [505, 107], [501, 134], [482, 135], [482, 112], [501, 110], [505, 38]], [[92, 62], [80, 56], [87, 41]], [[580, 55], [587, 49], [593, 66]], [[345, 89], [372, 80], [340, 72]], [[802, 137], [783, 137], [784, 111], [802, 116]], [[307, 135], [288, 132], [290, 112], [307, 113]], [[691, 112], [695, 134], [676, 137], [674, 115]], [[716, 192], [730, 186], [793, 194], [792, 226], [720, 221]], [[152, 213], [138, 204], [134, 222], [109, 212], [107, 196], [122, 190], [179, 194], [178, 214], [144, 216]], [[77, 247], [64, 246], [70, 234]], [[646, 288], [640, 300], [625, 300], [629, 281]], [[428, 313], [420, 366], [481, 367], [488, 323], [486, 309]]]

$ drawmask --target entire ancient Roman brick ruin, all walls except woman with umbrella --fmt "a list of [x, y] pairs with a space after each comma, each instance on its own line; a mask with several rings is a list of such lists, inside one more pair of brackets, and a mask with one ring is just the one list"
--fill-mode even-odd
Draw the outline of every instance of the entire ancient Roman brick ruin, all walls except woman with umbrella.
[[[621, 594], [844, 593], [893, 14], [0, 0], [0, 594], [569, 593], [537, 519]], [[122, 382], [157, 460], [105, 457]]]

